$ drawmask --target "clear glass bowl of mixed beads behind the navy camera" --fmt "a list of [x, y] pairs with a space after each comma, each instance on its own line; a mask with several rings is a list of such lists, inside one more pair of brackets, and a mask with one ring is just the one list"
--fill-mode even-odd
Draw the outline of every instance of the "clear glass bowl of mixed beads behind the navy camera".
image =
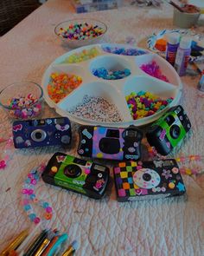
[[12, 120], [40, 117], [43, 90], [35, 82], [15, 82], [0, 92], [0, 106]]

